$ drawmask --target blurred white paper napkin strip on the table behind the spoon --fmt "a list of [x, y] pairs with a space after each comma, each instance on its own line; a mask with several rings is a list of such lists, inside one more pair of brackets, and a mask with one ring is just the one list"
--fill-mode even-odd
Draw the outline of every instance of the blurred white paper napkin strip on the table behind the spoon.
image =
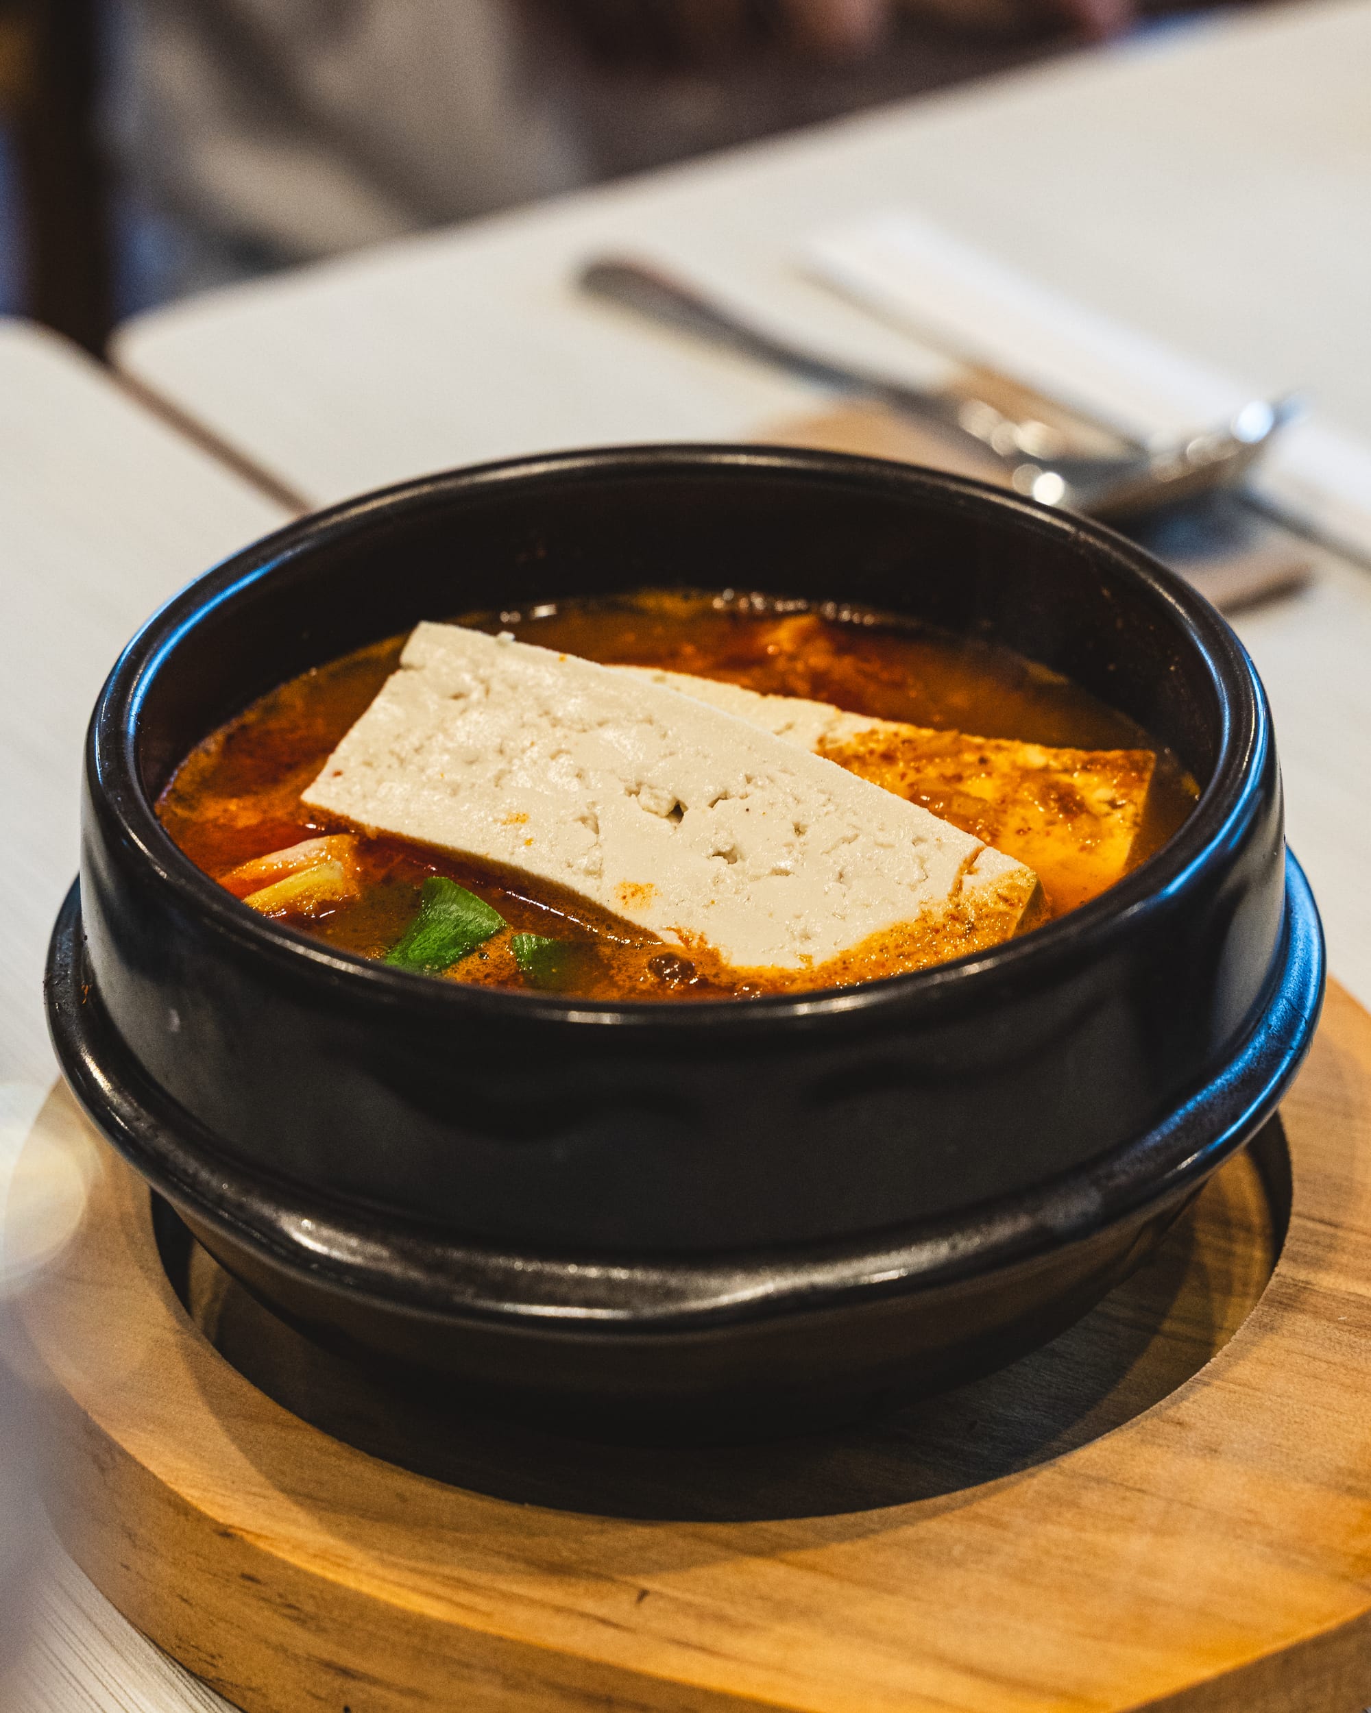
[[[939, 353], [979, 360], [1136, 439], [1222, 421], [1241, 382], [1099, 315], [907, 211], [816, 233], [812, 278]], [[1311, 533], [1371, 557], [1371, 447], [1316, 411], [1285, 428], [1251, 488]]]

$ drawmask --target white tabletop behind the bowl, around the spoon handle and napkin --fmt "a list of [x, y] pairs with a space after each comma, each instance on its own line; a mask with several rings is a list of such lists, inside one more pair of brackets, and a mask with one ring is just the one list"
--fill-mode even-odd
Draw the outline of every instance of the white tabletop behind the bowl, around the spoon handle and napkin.
[[1145, 38], [151, 313], [117, 360], [310, 502], [569, 444], [737, 437], [793, 380], [581, 300], [646, 247], [835, 344], [898, 334], [797, 278], [908, 204], [1254, 391], [1371, 439], [1371, 0]]

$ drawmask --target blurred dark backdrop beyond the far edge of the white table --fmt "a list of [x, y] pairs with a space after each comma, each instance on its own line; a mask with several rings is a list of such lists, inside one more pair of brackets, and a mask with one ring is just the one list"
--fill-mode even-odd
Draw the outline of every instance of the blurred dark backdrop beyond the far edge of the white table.
[[0, 0], [0, 312], [135, 310], [1198, 15], [1131, 0]]

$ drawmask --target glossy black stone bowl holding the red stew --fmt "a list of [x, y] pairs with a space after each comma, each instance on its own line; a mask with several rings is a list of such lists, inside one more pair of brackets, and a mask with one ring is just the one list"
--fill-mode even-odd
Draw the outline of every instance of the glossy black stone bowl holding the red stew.
[[[420, 618], [641, 584], [1008, 642], [1170, 743], [1203, 795], [1105, 896], [989, 954], [687, 1006], [365, 963], [163, 834], [177, 762], [283, 678]], [[406, 483], [171, 600], [94, 711], [48, 1009], [96, 1124], [315, 1336], [596, 1430], [728, 1435], [1051, 1338], [1270, 1119], [1321, 987], [1261, 685], [1186, 584], [972, 481], [648, 447]]]

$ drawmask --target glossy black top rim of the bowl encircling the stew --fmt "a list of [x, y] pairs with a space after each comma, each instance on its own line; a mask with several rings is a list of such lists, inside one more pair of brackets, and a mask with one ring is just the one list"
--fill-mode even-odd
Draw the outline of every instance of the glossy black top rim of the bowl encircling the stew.
[[[1145, 863], [1116, 882], [1100, 898], [1047, 923], [1023, 939], [1008, 940], [989, 952], [970, 954], [932, 970], [886, 976], [852, 988], [829, 988], [799, 995], [766, 995], [747, 1000], [692, 1000], [662, 1004], [650, 1000], [588, 1000], [530, 995], [497, 988], [434, 982], [350, 952], [336, 951], [248, 910], [202, 874], [168, 838], [144, 790], [137, 764], [139, 711], [158, 668], [177, 642], [213, 608], [235, 593], [269, 576], [278, 565], [307, 553], [315, 543], [353, 533], [375, 512], [422, 510], [447, 504], [454, 495], [555, 480], [593, 481], [605, 476], [634, 480], [706, 469], [768, 469], [795, 481], [867, 486], [872, 492], [922, 492], [925, 504], [948, 510], [994, 507], [1018, 519], [1020, 528], [1071, 540], [1085, 538], [1126, 577], [1141, 582], [1169, 610], [1172, 622], [1193, 641], [1205, 660], [1222, 714], [1222, 735], [1213, 774], [1200, 802], [1177, 833]], [[557, 452], [536, 457], [478, 464], [380, 488], [327, 510], [298, 519], [252, 546], [223, 560], [195, 579], [129, 642], [101, 690], [87, 735], [87, 771], [118, 822], [120, 838], [135, 848], [159, 882], [192, 915], [206, 920], [223, 939], [250, 956], [267, 959], [278, 973], [322, 982], [334, 994], [355, 1000], [413, 1012], [432, 1009], [435, 1019], [497, 1016], [530, 1023], [617, 1024], [636, 1031], [663, 1031], [674, 1038], [703, 1028], [716, 1030], [723, 1016], [737, 1031], [769, 1031], [785, 1023], [819, 1023], [843, 1012], [865, 1014], [898, 1002], [937, 1009], [953, 994], [970, 999], [985, 976], [1030, 978], [1063, 956], [1080, 956], [1081, 947], [1107, 956], [1112, 944], [1129, 932], [1140, 910], [1155, 908], [1186, 887], [1189, 877], [1220, 851], [1249, 810], [1253, 779], [1270, 743], [1270, 716], [1256, 671], [1246, 649], [1225, 620], [1174, 572], [1112, 529], [1088, 519], [1063, 516], [1003, 488], [963, 476], [924, 471], [884, 459], [843, 452], [809, 452], [790, 447], [739, 445], [639, 445]]]

